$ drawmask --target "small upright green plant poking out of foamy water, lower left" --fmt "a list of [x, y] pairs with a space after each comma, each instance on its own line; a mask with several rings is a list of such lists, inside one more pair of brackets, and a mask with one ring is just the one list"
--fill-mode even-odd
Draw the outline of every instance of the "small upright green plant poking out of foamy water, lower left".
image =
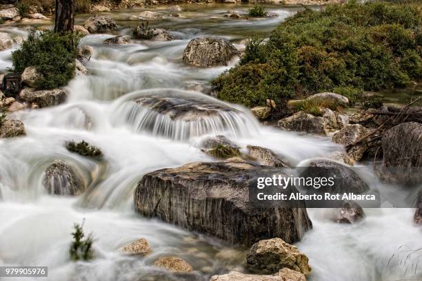
[[[74, 224], [74, 232], [72, 232], [73, 241], [70, 245], [70, 259], [77, 260], [91, 260], [93, 258], [92, 244], [94, 238], [92, 234], [85, 238], [82, 225]], [[85, 238], [85, 239], [84, 239]]]

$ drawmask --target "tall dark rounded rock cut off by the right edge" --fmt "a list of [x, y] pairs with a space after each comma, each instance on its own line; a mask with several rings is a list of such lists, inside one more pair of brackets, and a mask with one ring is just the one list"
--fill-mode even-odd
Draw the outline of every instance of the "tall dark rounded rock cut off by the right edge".
[[417, 185], [422, 182], [422, 124], [407, 122], [383, 134], [383, 178], [392, 183]]

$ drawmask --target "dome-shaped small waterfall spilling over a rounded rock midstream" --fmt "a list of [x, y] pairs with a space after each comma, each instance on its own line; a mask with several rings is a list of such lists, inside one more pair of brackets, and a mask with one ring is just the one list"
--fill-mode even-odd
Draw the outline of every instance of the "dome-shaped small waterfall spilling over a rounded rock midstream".
[[199, 92], [182, 90], [154, 89], [126, 95], [114, 118], [135, 132], [176, 141], [205, 134], [234, 138], [259, 134], [259, 125], [250, 114]]

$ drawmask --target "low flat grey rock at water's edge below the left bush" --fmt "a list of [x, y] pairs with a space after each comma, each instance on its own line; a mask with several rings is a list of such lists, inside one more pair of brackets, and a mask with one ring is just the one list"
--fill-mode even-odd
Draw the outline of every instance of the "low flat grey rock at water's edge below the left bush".
[[33, 88], [23, 88], [19, 93], [19, 98], [28, 103], [37, 103], [39, 107], [48, 107], [52, 105], [59, 105], [66, 101], [68, 94], [64, 89], [53, 90], [39, 90]]

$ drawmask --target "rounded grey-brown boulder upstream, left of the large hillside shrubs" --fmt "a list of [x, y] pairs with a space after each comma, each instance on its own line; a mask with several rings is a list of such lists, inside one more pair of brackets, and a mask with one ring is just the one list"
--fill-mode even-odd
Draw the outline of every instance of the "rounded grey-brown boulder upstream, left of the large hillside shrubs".
[[228, 65], [239, 51], [230, 41], [212, 37], [195, 38], [183, 51], [183, 62], [192, 66]]

